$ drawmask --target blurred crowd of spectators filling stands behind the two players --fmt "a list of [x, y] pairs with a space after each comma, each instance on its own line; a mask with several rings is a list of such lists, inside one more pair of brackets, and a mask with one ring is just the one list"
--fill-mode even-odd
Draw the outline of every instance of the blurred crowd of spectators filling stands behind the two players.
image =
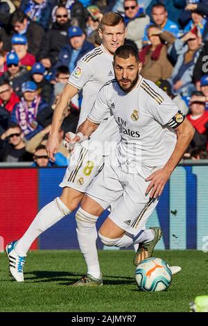
[[102, 14], [121, 13], [141, 75], [171, 96], [196, 129], [184, 158], [208, 158], [208, 0], [0, 0], [0, 162], [67, 166], [82, 94], [60, 128], [55, 163], [46, 153], [55, 102], [85, 53], [101, 45]]

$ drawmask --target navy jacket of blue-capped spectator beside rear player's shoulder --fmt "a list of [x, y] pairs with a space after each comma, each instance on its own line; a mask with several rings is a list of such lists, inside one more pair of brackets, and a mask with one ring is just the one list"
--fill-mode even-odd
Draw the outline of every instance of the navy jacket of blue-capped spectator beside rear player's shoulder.
[[[83, 43], [82, 49], [80, 50], [80, 53], [78, 54], [78, 58], [76, 58], [75, 65], [78, 62], [78, 60], [80, 60], [80, 58], [82, 58], [83, 55], [85, 55], [85, 53], [91, 51], [92, 49], [94, 49], [94, 45], [85, 41]], [[55, 69], [57, 69], [60, 66], [69, 67], [69, 62], [71, 60], [72, 51], [73, 51], [73, 49], [70, 44], [67, 44], [66, 46], [64, 46], [62, 48], [62, 50], [60, 51], [60, 54], [58, 55], [58, 62], [55, 65]]]

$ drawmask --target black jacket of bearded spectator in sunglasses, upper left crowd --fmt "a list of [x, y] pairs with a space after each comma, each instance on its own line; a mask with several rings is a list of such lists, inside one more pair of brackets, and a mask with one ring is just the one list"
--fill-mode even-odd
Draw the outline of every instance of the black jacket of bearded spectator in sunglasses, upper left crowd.
[[51, 29], [46, 32], [40, 44], [40, 51], [37, 60], [49, 58], [51, 65], [55, 65], [58, 60], [58, 53], [62, 47], [69, 42], [68, 38], [69, 22], [62, 26], [56, 22], [53, 23]]

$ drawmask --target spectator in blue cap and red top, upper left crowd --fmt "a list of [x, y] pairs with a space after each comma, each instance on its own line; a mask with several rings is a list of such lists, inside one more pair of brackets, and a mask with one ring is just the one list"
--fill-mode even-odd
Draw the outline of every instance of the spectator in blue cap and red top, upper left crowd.
[[33, 54], [28, 53], [28, 41], [24, 35], [12, 36], [12, 49], [17, 53], [22, 66], [32, 67], [35, 63]]

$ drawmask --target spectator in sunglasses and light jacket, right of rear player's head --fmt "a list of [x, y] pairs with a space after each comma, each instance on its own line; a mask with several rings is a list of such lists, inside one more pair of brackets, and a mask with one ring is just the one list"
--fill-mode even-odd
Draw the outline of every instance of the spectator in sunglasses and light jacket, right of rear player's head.
[[150, 17], [145, 15], [144, 9], [139, 7], [137, 0], [125, 0], [123, 8], [125, 24], [128, 28], [126, 38], [134, 41], [140, 50], [142, 48], [145, 27], [149, 24]]

